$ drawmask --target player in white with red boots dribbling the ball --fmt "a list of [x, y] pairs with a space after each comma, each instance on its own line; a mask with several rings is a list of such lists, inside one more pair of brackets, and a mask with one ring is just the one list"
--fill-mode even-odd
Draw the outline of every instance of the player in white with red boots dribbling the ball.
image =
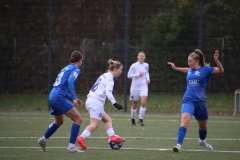
[[119, 144], [123, 141], [122, 137], [115, 136], [112, 120], [104, 111], [106, 97], [118, 110], [123, 109], [123, 107], [116, 102], [112, 94], [114, 87], [113, 78], [121, 75], [123, 65], [119, 61], [113, 61], [111, 59], [108, 63], [108, 72], [102, 74], [97, 79], [87, 96], [86, 108], [90, 114], [90, 125], [88, 125], [83, 133], [77, 138], [77, 142], [84, 150], [87, 149], [85, 140], [98, 128], [101, 121], [105, 123], [105, 130], [111, 141], [115, 141]]

